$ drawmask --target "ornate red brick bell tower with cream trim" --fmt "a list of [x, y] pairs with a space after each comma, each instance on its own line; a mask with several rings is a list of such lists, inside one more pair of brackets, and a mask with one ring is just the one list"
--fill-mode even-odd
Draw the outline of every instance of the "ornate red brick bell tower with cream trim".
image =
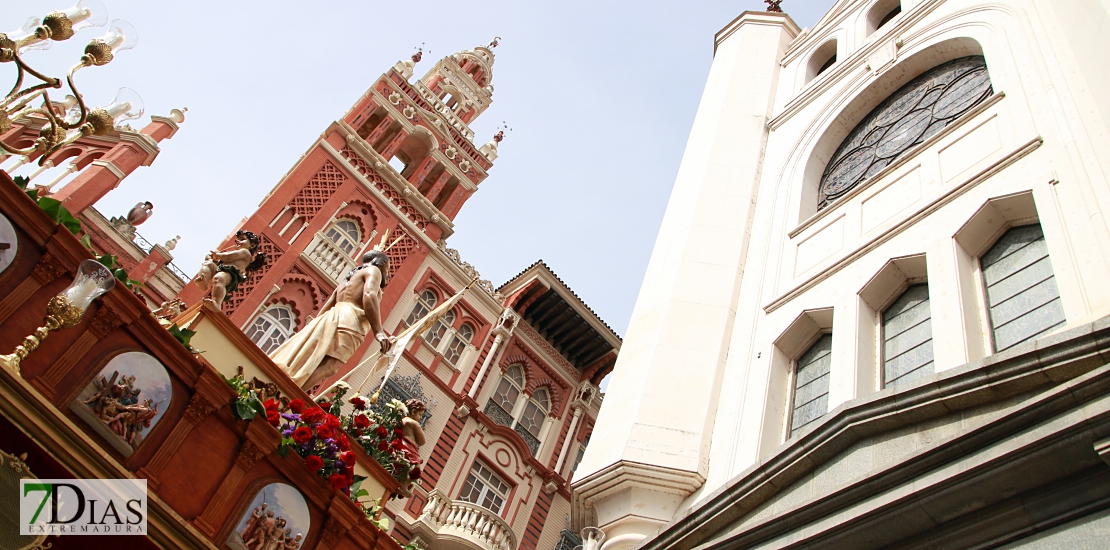
[[[270, 258], [223, 306], [264, 351], [303, 327], [386, 230], [391, 241], [402, 239], [389, 251], [385, 312], [436, 241], [452, 234], [452, 220], [486, 178], [501, 141], [475, 146], [467, 126], [492, 102], [494, 47], [496, 40], [446, 57], [417, 81], [410, 79], [420, 52], [397, 62], [324, 130], [253, 214], [229, 228], [220, 250], [245, 229], [261, 237]], [[192, 283], [180, 294], [190, 306], [201, 297]], [[281, 314], [269, 314], [274, 308]]]

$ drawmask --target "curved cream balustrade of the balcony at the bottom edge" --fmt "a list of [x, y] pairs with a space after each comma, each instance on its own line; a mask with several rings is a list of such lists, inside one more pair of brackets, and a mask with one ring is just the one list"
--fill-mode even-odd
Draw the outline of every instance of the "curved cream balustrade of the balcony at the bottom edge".
[[501, 516], [433, 489], [417, 519], [437, 536], [463, 539], [482, 550], [516, 550], [516, 536]]

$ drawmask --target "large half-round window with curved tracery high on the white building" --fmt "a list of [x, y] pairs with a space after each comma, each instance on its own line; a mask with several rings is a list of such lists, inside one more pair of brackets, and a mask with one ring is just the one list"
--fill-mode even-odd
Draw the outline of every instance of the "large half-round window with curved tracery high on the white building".
[[817, 209], [890, 166], [993, 92], [982, 56], [949, 61], [899, 88], [833, 154], [821, 174]]

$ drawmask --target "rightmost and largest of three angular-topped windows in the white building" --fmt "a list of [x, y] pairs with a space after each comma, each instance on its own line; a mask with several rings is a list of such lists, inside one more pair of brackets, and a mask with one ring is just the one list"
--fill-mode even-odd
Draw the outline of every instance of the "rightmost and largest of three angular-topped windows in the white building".
[[1007, 231], [979, 258], [979, 264], [996, 352], [1067, 322], [1040, 223]]

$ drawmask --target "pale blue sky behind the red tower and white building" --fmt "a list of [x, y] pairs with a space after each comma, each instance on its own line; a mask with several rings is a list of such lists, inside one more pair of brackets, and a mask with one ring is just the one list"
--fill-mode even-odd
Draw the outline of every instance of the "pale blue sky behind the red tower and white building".
[[[14, 30], [70, 1], [16, 2], [0, 28]], [[500, 37], [493, 103], [471, 128], [478, 146], [503, 123], [512, 130], [447, 246], [495, 286], [543, 259], [620, 336], [708, 76], [713, 37], [744, 10], [765, 7], [758, 0], [105, 4], [110, 19], [135, 27], [139, 44], [77, 73], [87, 101], [105, 104], [120, 87], [135, 90], [147, 109], [130, 122], [137, 129], [150, 114], [189, 111], [154, 163], [95, 207], [112, 217], [153, 202], [139, 232], [152, 242], [180, 234], [172, 253], [189, 274], [397, 60], [423, 46], [418, 79], [437, 59]], [[831, 4], [786, 0], [783, 9], [799, 27], [813, 27]], [[87, 29], [23, 58], [62, 76], [105, 30]], [[13, 81], [12, 64], [0, 66], [0, 82]], [[44, 173], [36, 183], [51, 179]]]

